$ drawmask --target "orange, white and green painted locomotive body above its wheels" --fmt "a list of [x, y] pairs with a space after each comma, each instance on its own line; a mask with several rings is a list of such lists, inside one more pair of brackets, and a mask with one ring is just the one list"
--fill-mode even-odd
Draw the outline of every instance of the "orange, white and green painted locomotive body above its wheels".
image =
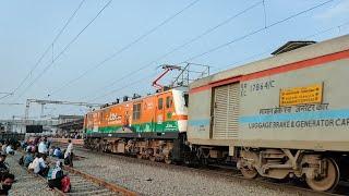
[[[172, 93], [173, 91], [173, 93]], [[87, 113], [87, 134], [185, 132], [183, 94], [170, 90]]]

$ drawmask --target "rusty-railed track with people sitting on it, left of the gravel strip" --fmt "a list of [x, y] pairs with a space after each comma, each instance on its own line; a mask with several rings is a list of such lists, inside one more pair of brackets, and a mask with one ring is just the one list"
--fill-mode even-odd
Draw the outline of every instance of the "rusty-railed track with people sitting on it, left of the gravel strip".
[[[21, 151], [23, 155], [23, 151]], [[83, 158], [83, 157], [80, 157]], [[49, 157], [48, 161], [55, 163], [57, 158]], [[60, 160], [61, 161], [61, 160]], [[62, 168], [64, 174], [68, 174], [71, 182], [71, 191], [69, 193], [63, 193], [57, 188], [55, 191], [62, 196], [73, 195], [73, 196], [85, 196], [85, 195], [99, 195], [99, 196], [134, 196], [137, 195], [135, 192], [129, 191], [116, 184], [106, 182], [103, 179], [93, 176], [88, 173], [82, 172], [71, 167], [64, 166]], [[34, 175], [34, 174], [33, 174]], [[38, 175], [40, 176], [40, 175]], [[46, 181], [45, 177], [40, 176]]]

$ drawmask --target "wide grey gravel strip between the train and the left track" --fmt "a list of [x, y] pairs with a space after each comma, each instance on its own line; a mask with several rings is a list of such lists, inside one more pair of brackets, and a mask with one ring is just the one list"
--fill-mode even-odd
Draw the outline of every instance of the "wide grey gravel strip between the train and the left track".
[[191, 170], [75, 150], [74, 168], [144, 195], [298, 195]]

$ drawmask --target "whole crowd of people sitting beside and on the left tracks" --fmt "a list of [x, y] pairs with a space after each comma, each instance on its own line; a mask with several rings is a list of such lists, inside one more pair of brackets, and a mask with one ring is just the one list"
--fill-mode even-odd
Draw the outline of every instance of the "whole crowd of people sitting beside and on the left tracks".
[[[13, 156], [15, 149], [21, 147], [25, 150], [25, 155], [21, 157], [19, 163], [29, 172], [47, 177], [50, 188], [58, 188], [62, 192], [71, 189], [70, 179], [63, 173], [63, 163], [73, 167], [73, 144], [69, 139], [69, 145], [65, 150], [59, 147], [51, 146], [51, 143], [45, 137], [37, 137], [34, 140], [23, 140], [21, 143], [5, 140], [0, 143], [0, 195], [8, 195], [14, 183], [15, 176], [10, 173], [10, 166], [5, 162], [8, 156]], [[55, 157], [58, 160], [51, 164], [48, 162], [48, 157]]]

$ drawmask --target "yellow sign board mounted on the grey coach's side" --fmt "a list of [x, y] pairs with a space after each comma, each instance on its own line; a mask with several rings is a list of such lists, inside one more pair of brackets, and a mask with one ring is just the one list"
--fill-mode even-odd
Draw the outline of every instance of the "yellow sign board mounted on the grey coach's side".
[[323, 84], [280, 90], [280, 107], [321, 103], [323, 101]]

